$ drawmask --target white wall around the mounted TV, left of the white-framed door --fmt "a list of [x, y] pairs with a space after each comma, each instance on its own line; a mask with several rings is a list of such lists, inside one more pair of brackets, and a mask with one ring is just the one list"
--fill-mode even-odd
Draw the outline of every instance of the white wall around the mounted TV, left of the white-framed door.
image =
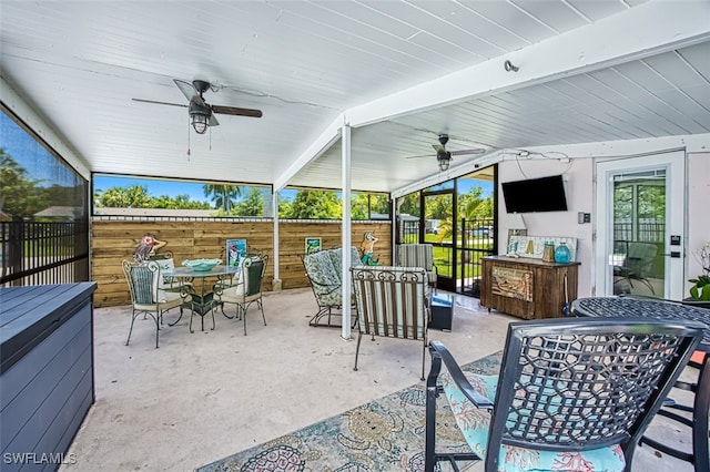
[[[578, 224], [577, 213], [592, 212], [594, 185], [592, 160], [577, 158], [565, 163], [558, 158], [519, 158], [517, 162], [504, 161], [498, 164], [499, 183], [524, 178], [547, 177], [562, 174], [567, 193], [567, 212], [526, 213], [523, 215], [528, 236], [567, 236], [578, 238], [577, 260], [579, 267], [578, 296], [590, 296], [591, 280], [591, 228], [592, 225]], [[506, 225], [505, 201], [498, 186], [498, 247], [507, 247], [508, 227]], [[594, 214], [592, 214], [594, 218]]]

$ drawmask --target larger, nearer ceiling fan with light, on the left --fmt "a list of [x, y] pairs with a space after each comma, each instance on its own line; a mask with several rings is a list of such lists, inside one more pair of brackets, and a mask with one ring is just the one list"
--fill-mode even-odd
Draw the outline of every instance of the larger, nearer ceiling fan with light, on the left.
[[219, 89], [207, 81], [193, 80], [192, 83], [180, 79], [173, 79], [178, 89], [190, 101], [187, 105], [182, 103], [158, 102], [154, 100], [133, 99], [136, 102], [155, 103], [159, 105], [184, 106], [190, 113], [190, 122], [197, 134], [204, 134], [209, 126], [217, 126], [220, 122], [214, 117], [214, 113], [236, 116], [262, 117], [261, 110], [240, 109], [236, 106], [211, 105], [202, 96], [207, 90], [216, 92]]

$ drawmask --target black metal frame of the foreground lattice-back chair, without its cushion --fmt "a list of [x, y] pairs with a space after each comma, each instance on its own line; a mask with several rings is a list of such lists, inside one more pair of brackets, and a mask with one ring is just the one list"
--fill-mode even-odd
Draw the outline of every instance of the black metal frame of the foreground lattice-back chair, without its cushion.
[[[546, 319], [508, 327], [491, 408], [486, 471], [506, 470], [501, 448], [591, 451], [619, 445], [630, 470], [636, 444], [700, 342], [703, 326], [648, 318]], [[430, 342], [427, 390], [442, 360], [457, 387], [474, 391], [454, 358]], [[427, 394], [427, 470], [456, 454], [434, 451]], [[435, 397], [435, 394], [434, 394]], [[432, 437], [430, 437], [432, 434]], [[474, 449], [476, 450], [476, 449]], [[470, 459], [467, 454], [465, 459]], [[503, 466], [503, 469], [500, 469]]]

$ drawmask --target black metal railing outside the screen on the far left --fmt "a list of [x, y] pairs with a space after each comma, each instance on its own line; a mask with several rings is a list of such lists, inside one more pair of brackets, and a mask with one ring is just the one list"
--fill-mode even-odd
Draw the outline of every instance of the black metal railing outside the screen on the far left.
[[89, 280], [87, 219], [0, 222], [0, 239], [2, 286]]

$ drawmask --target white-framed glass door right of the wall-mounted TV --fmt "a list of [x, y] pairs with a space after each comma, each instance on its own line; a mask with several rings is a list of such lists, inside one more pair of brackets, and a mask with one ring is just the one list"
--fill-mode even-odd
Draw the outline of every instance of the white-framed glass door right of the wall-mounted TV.
[[683, 152], [597, 164], [596, 295], [681, 299]]

